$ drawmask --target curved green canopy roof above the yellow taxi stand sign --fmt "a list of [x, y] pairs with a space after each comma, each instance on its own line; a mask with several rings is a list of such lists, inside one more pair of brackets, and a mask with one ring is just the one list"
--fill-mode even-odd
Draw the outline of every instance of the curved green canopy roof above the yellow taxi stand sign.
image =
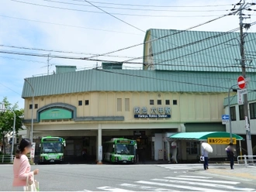
[[[233, 138], [243, 140], [240, 135], [232, 134]], [[185, 139], [185, 140], [206, 140], [212, 138], [230, 138], [229, 132], [179, 132], [171, 135], [170, 139]]]

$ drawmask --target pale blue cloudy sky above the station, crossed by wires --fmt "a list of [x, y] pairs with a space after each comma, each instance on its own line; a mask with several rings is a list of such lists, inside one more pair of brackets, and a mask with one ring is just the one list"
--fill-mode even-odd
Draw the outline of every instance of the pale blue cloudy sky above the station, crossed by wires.
[[[29, 5], [26, 4], [26, 2], [36, 5]], [[214, 19], [219, 15], [227, 14], [227, 9], [233, 8], [231, 4], [237, 3], [238, 1], [99, 0], [99, 2], [94, 0], [92, 3], [100, 6], [101, 9], [104, 9], [107, 12], [129, 14], [115, 16], [143, 31], [146, 31], [150, 28], [188, 29], [191, 26]], [[130, 4], [133, 6], [103, 4], [104, 2]], [[134, 6], [138, 4], [157, 5], [158, 7]], [[2, 0], [0, 6], [0, 51], [9, 50], [11, 52], [22, 53], [50, 53], [52, 55], [63, 55], [69, 57], [89, 57], [90, 54], [108, 53], [112, 50], [119, 50], [120, 48], [132, 46], [133, 44], [142, 43], [144, 41], [144, 32], [134, 29], [106, 13], [92, 13], [102, 11], [93, 6], [86, 5], [89, 4], [82, 0]], [[202, 5], [221, 6], [195, 7]], [[52, 7], [57, 7], [58, 9], [54, 9]], [[154, 10], [143, 11], [135, 9]], [[159, 17], [160, 15], [161, 17]], [[247, 22], [254, 21], [256, 21], [256, 17], [254, 15], [251, 16], [251, 19], [247, 19]], [[230, 29], [237, 28], [238, 23], [238, 15], [232, 15], [200, 26], [194, 30], [228, 31]], [[255, 29], [255, 26], [252, 26], [250, 32], [255, 32]], [[32, 47], [43, 50], [62, 50], [72, 53], [24, 50], [6, 46]], [[142, 56], [142, 53], [143, 46], [137, 46], [132, 49], [112, 53], [112, 56], [115, 57], [95, 58], [122, 61], [126, 60], [126, 57], [140, 57]], [[140, 60], [137, 61], [140, 62]], [[89, 69], [95, 67], [97, 63], [86, 60], [81, 61], [51, 58], [50, 73], [55, 70], [54, 65], [56, 64], [75, 65], [78, 69]], [[101, 63], [99, 62], [98, 64], [100, 65]], [[46, 66], [47, 57], [27, 57], [0, 53], [0, 99], [2, 100], [2, 98], [6, 96], [9, 101], [12, 103], [18, 102], [19, 108], [23, 108], [24, 102], [21, 98], [21, 94], [24, 78], [32, 77], [33, 75], [47, 74]], [[130, 69], [138, 69], [141, 67], [140, 65], [135, 64], [125, 64], [124, 66]]]

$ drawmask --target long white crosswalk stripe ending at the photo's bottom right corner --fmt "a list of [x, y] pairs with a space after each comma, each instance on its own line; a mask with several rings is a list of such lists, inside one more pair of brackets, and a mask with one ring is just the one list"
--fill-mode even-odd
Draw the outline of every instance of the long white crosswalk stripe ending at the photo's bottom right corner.
[[251, 188], [241, 188], [241, 187], [234, 187], [231, 185], [223, 185], [223, 184], [215, 184], [215, 183], [199, 183], [199, 182], [192, 182], [192, 181], [185, 181], [185, 180], [163, 180], [163, 179], [152, 179], [154, 181], [161, 181], [161, 182], [168, 182], [168, 183], [181, 183], [181, 184], [189, 184], [189, 185], [199, 185], [205, 187], [216, 187], [222, 189], [229, 189], [229, 190], [244, 190], [244, 191], [252, 191], [254, 189]]

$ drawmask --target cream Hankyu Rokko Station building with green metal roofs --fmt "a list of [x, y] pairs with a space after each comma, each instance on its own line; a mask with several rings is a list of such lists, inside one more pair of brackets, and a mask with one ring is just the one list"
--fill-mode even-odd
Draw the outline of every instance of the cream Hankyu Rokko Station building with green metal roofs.
[[[226, 132], [223, 102], [241, 74], [239, 47], [229, 46], [237, 43], [237, 36], [149, 29], [143, 70], [102, 63], [93, 70], [56, 66], [54, 74], [29, 77], [34, 91], [24, 81], [24, 123], [29, 130], [33, 108], [33, 140], [64, 137], [64, 155], [72, 158], [86, 149], [98, 159], [102, 142], [124, 137], [136, 139], [138, 148], [147, 151], [146, 159], [170, 159], [170, 136], [175, 133]], [[254, 49], [256, 34], [246, 38], [245, 46]], [[248, 68], [247, 74], [253, 87], [255, 72]], [[198, 141], [188, 139], [177, 147], [178, 160], [199, 156]]]

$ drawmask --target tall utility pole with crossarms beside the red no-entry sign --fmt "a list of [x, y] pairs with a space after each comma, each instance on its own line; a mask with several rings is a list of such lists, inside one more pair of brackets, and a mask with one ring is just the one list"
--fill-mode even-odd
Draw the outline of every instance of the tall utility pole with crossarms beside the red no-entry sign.
[[[244, 14], [243, 14], [243, 10], [244, 8], [247, 6], [247, 3], [241, 3], [240, 4], [240, 11], [239, 11], [239, 19], [240, 19], [240, 57], [241, 57], [241, 67], [242, 67], [242, 76], [244, 77], [244, 79], [246, 79], [246, 73], [245, 73], [245, 61], [246, 58], [244, 56], [244, 26], [246, 24], [243, 23], [244, 18]], [[244, 94], [244, 118], [245, 118], [245, 126], [246, 126], [246, 141], [247, 141], [247, 155], [248, 156], [252, 156], [252, 146], [251, 146], [251, 130], [250, 130], [250, 120], [249, 120], [249, 116], [248, 116], [248, 101], [247, 101], [247, 94]], [[251, 159], [251, 158], [249, 158]]]

